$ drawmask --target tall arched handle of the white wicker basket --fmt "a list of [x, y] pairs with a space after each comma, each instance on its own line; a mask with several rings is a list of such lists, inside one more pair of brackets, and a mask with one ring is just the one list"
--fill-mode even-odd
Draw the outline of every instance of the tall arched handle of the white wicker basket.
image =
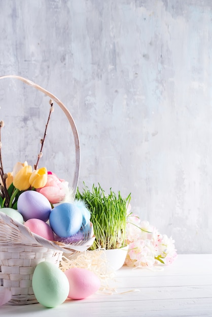
[[78, 180], [79, 180], [79, 172], [80, 172], [80, 141], [79, 141], [79, 136], [77, 132], [77, 127], [74, 122], [74, 119], [68, 109], [65, 107], [65, 105], [52, 93], [47, 91], [46, 89], [42, 88], [41, 86], [27, 80], [24, 77], [18, 76], [18, 75], [5, 75], [5, 76], [0, 76], [0, 80], [4, 78], [16, 78], [17, 80], [36, 88], [37, 90], [40, 90], [47, 96], [49, 96], [52, 100], [54, 100], [58, 106], [63, 110], [65, 113], [67, 120], [72, 128], [73, 134], [74, 134], [74, 140], [75, 140], [75, 174], [74, 174], [74, 180], [73, 180], [73, 191], [74, 195], [76, 194], [77, 186], [78, 186]]

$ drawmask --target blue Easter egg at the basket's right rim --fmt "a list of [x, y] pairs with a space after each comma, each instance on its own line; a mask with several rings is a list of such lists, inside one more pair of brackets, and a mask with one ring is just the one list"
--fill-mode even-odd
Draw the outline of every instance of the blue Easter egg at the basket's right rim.
[[83, 216], [80, 209], [70, 203], [54, 207], [49, 215], [52, 230], [60, 237], [76, 234], [82, 226]]

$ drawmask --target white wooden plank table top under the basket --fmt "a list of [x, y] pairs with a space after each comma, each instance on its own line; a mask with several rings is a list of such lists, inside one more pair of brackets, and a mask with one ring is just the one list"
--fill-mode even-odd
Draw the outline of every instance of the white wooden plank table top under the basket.
[[[122, 267], [117, 293], [68, 300], [55, 308], [41, 304], [0, 307], [0, 315], [38, 317], [212, 316], [212, 255], [179, 255], [163, 270]], [[135, 291], [137, 290], [137, 291]], [[128, 293], [124, 293], [127, 292]], [[131, 292], [130, 292], [131, 291]]]

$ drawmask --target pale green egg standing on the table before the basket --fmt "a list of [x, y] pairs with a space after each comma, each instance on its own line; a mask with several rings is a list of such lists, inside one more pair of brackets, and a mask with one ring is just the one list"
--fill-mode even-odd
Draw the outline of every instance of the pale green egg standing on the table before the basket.
[[62, 304], [69, 293], [66, 275], [53, 263], [39, 263], [32, 276], [32, 289], [38, 302], [45, 307]]

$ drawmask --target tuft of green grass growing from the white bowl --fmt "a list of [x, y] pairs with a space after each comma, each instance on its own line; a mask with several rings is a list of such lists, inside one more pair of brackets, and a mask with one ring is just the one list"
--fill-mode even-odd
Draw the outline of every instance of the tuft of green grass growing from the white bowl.
[[90, 250], [99, 248], [118, 249], [126, 246], [126, 216], [131, 194], [123, 199], [120, 191], [118, 195], [110, 189], [105, 195], [98, 184], [93, 185], [92, 191], [85, 186], [82, 192], [77, 189], [76, 199], [85, 202], [90, 210], [94, 235], [96, 237]]

